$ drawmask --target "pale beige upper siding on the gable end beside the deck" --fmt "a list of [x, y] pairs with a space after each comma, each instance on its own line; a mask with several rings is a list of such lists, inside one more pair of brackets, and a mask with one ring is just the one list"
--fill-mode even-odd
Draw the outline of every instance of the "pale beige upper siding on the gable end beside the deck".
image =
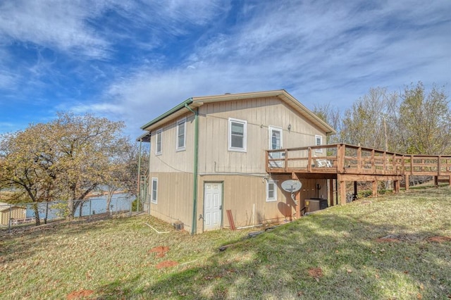
[[[228, 151], [228, 120], [247, 121], [247, 151]], [[291, 125], [290, 132], [288, 125]], [[204, 104], [199, 114], [199, 173], [264, 174], [268, 127], [283, 130], [283, 147], [310, 146], [326, 135], [278, 98]]]

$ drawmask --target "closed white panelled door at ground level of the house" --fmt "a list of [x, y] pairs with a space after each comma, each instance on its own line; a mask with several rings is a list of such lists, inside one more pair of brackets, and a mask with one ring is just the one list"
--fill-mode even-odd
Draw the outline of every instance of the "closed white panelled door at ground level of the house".
[[221, 182], [204, 183], [204, 230], [221, 229], [223, 185]]

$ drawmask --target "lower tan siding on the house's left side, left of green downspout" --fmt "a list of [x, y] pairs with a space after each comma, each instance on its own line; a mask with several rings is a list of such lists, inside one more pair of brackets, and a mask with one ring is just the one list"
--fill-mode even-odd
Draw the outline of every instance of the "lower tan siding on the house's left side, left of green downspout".
[[[190, 230], [192, 222], [192, 174], [187, 173], [151, 173], [158, 179], [158, 201], [151, 202], [150, 212], [156, 218], [168, 223], [182, 221], [185, 230]], [[152, 185], [149, 195], [152, 195]]]

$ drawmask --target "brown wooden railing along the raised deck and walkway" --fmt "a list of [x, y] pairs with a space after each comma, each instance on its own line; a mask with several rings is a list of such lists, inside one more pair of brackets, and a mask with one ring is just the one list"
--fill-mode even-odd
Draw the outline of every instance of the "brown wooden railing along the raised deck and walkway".
[[350, 144], [266, 150], [268, 173], [451, 175], [451, 156], [405, 155]]

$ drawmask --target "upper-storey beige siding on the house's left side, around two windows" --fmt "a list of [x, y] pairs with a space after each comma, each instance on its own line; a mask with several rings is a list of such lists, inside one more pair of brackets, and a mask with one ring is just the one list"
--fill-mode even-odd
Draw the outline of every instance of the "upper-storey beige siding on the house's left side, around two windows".
[[[185, 149], [177, 149], [177, 123], [186, 118]], [[177, 120], [164, 125], [161, 154], [156, 155], [156, 132], [151, 136], [150, 168], [152, 172], [192, 173], [194, 168], [194, 115], [182, 115]]]

